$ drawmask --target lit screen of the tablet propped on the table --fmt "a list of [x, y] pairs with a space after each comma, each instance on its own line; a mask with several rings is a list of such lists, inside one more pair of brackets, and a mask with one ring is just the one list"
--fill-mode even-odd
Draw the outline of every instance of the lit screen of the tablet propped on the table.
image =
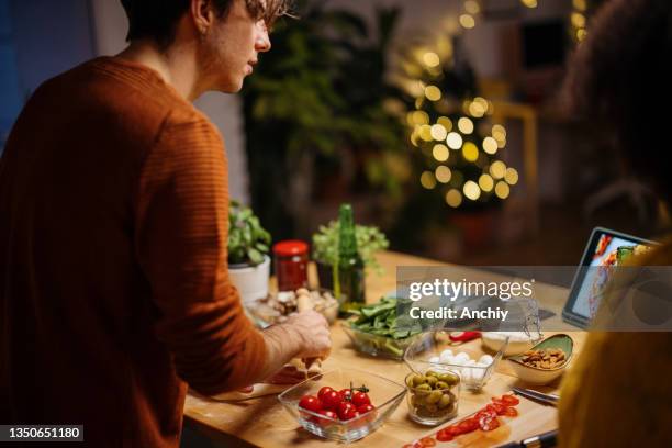
[[[613, 267], [625, 262], [632, 255], [647, 251], [650, 245], [645, 240], [628, 235], [598, 229], [591, 238], [584, 259], [582, 260], [582, 278], [572, 313], [591, 320], [597, 312], [597, 306], [604, 293], [604, 288], [613, 272]], [[648, 242], [646, 242], [648, 243]], [[586, 268], [587, 267], [587, 268]]]

